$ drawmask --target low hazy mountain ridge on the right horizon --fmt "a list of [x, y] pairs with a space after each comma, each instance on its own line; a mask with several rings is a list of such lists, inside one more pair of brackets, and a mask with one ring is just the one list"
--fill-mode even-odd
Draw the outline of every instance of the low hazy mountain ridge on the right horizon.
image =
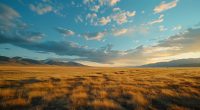
[[140, 67], [200, 67], [200, 58], [172, 60], [142, 65]]

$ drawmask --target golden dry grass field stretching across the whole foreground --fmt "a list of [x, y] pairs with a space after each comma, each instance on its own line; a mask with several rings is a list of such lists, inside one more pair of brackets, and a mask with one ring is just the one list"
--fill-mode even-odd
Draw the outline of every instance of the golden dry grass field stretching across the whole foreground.
[[0, 66], [1, 110], [200, 110], [200, 68]]

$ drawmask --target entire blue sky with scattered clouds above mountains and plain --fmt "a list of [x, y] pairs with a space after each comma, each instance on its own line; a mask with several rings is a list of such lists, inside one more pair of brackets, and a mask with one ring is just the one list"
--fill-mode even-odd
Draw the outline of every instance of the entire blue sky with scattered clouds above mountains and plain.
[[1, 0], [0, 55], [137, 66], [200, 57], [199, 0]]

